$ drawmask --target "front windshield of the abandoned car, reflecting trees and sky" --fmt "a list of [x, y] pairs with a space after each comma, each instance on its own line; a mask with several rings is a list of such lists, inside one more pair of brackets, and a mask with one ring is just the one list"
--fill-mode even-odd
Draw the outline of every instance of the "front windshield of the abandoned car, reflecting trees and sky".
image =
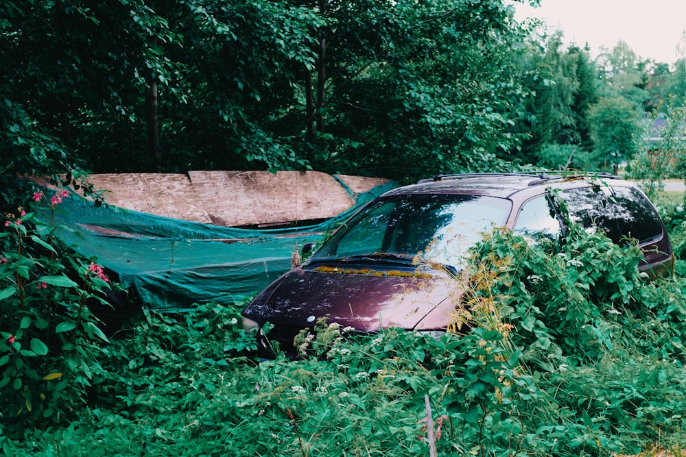
[[485, 232], [506, 223], [511, 203], [478, 195], [411, 194], [377, 199], [344, 223], [310, 262], [412, 260], [460, 267]]

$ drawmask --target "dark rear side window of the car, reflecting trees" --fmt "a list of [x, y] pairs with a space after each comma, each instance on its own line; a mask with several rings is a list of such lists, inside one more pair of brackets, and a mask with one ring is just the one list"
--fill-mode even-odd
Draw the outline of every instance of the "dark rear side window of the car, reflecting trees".
[[645, 244], [662, 236], [659, 216], [637, 189], [612, 188], [606, 195], [598, 186], [560, 192], [567, 202], [569, 217], [591, 232], [602, 231], [615, 243], [630, 237]]

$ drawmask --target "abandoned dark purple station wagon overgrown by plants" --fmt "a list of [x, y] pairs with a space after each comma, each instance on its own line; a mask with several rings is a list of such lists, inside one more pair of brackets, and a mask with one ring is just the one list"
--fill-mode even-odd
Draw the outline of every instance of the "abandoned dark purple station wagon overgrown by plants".
[[[461, 295], [464, 256], [485, 232], [508, 227], [532, 241], [554, 242], [565, 234], [551, 190], [586, 230], [602, 230], [615, 243], [635, 238], [644, 254], [642, 271], [653, 277], [672, 271], [672, 247], [657, 211], [641, 190], [618, 177], [439, 175], [364, 206], [307, 262], [255, 297], [243, 312], [244, 326], [259, 328], [259, 355], [267, 358], [273, 357], [271, 341], [297, 356], [294, 336], [322, 317], [358, 332], [445, 331]], [[263, 334], [267, 322], [274, 327]]]

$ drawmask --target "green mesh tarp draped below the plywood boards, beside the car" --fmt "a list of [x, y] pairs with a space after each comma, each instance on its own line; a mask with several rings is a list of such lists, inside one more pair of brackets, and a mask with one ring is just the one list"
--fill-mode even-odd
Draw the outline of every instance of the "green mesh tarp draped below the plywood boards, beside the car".
[[182, 310], [257, 294], [291, 267], [294, 249], [316, 243], [359, 206], [396, 186], [388, 182], [354, 195], [355, 206], [346, 212], [304, 227], [220, 227], [113, 206], [97, 208], [79, 197], [56, 207], [54, 224], [60, 226], [60, 240], [86, 258], [97, 257], [144, 306]]

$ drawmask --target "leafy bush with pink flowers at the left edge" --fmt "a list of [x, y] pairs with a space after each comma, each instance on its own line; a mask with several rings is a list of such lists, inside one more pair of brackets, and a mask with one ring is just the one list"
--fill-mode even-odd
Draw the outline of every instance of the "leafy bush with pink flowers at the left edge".
[[[51, 197], [58, 210], [67, 190]], [[42, 191], [32, 203], [45, 201]], [[28, 209], [28, 208], [27, 208]], [[108, 338], [88, 305], [106, 304], [106, 273], [53, 237], [49, 221], [23, 207], [4, 214], [0, 232], [0, 430], [73, 419], [88, 388], [102, 375]], [[10, 420], [11, 419], [11, 420]]]

